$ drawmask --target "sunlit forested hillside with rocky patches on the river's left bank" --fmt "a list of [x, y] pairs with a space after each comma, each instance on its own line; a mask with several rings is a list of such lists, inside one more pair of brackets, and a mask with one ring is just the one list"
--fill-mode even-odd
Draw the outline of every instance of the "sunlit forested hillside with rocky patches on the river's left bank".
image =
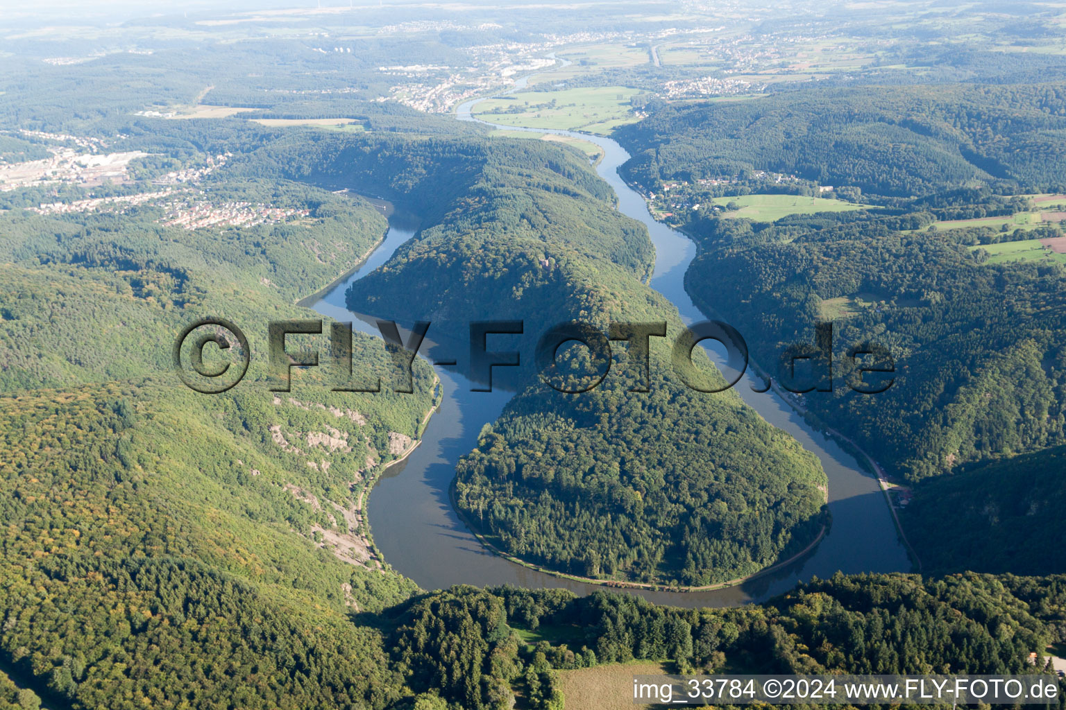
[[[185, 229], [168, 200], [289, 216]], [[418, 437], [433, 374], [416, 363], [414, 394], [356, 395], [298, 373], [275, 394], [265, 364], [266, 321], [317, 319], [293, 301], [385, 227], [362, 200], [221, 178], [125, 209], [0, 214], [0, 658], [49, 706], [399, 697], [381, 633], [350, 614], [417, 589], [384, 565], [362, 501]], [[252, 347], [222, 395], [173, 371], [178, 332], [205, 316]], [[354, 368], [389, 363], [355, 337]], [[0, 684], [12, 698], [34, 700]]]

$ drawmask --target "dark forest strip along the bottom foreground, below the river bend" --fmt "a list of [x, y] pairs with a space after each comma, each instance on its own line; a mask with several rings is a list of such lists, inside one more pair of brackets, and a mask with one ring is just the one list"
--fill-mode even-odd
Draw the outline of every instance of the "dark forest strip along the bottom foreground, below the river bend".
[[506, 708], [508, 687], [535, 687], [532, 707], [555, 709], [565, 697], [554, 671], [640, 659], [682, 674], [1039, 673], [1066, 630], [1063, 590], [1062, 577], [837, 575], [762, 606], [681, 610], [602, 592], [459, 587], [386, 617], [393, 659], [420, 693], [413, 707]]

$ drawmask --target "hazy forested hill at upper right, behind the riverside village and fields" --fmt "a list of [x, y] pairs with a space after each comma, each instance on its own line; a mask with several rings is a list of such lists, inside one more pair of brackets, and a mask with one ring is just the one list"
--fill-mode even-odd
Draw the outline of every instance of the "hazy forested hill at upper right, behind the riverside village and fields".
[[910, 197], [974, 181], [1021, 192], [1066, 185], [1062, 84], [815, 88], [669, 106], [615, 136], [628, 180], [733, 178], [753, 170]]

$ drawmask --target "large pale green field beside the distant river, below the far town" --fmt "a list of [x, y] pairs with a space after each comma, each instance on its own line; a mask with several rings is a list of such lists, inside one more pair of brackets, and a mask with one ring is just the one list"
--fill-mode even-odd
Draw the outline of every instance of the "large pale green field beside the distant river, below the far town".
[[474, 115], [504, 126], [581, 130], [605, 135], [637, 120], [629, 100], [637, 90], [627, 86], [522, 92], [478, 104]]

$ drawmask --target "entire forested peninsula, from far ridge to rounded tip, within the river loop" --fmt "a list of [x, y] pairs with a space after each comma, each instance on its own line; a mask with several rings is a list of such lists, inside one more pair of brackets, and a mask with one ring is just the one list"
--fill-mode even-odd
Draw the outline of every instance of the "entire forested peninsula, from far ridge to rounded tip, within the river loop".
[[[521, 319], [524, 362], [548, 327], [571, 319], [604, 332], [612, 319], [661, 320], [671, 340], [680, 332], [676, 310], [642, 283], [653, 257], [646, 231], [618, 215], [577, 151], [378, 137], [323, 138], [301, 158], [294, 148], [269, 146], [246, 165], [374, 189], [423, 216], [406, 247], [353, 284], [354, 311], [430, 319], [459, 345], [470, 320]], [[688, 392], [665, 339], [653, 340], [652, 395], [627, 392], [625, 366], [577, 397], [521, 385], [531, 389], [458, 472], [457, 503], [494, 544], [565, 573], [705, 584], [818, 535], [817, 460], [736, 395]], [[550, 463], [532, 465], [531, 451]]]

